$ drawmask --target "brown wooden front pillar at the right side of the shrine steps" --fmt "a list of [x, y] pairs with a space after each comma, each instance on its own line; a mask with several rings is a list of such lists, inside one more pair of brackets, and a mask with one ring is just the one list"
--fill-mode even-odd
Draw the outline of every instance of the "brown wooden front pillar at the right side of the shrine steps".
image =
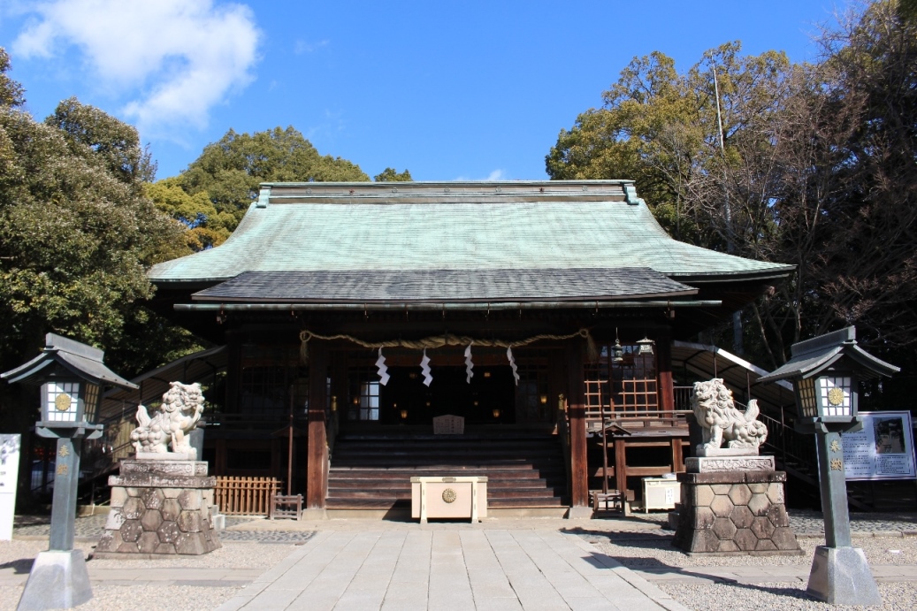
[[583, 380], [582, 342], [567, 346], [570, 427], [570, 506], [589, 506], [589, 465], [586, 456], [586, 383]]

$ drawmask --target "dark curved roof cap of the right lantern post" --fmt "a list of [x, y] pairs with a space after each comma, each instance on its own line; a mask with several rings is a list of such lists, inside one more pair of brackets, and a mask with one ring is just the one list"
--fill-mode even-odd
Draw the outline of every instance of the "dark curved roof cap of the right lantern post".
[[[811, 378], [839, 362], [853, 369], [861, 380], [889, 377], [900, 372], [896, 367], [877, 359], [856, 343], [856, 328], [847, 327], [817, 338], [795, 343], [790, 348], [790, 361], [773, 372], [758, 378], [759, 383], [777, 382], [787, 378]], [[846, 362], [843, 362], [846, 361]]]

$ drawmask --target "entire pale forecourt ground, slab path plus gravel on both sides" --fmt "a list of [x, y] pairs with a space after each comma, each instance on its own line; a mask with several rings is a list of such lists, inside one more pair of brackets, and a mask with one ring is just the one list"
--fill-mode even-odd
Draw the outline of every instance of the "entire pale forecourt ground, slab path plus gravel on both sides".
[[[89, 561], [95, 598], [86, 611], [128, 608], [131, 593], [159, 593], [150, 609], [743, 609], [834, 608], [807, 600], [811, 551], [803, 557], [698, 559], [671, 547], [664, 514], [601, 520], [488, 519], [467, 522], [231, 518], [224, 549], [171, 561]], [[0, 543], [0, 610], [15, 608], [27, 556], [47, 545], [41, 518], [19, 518]], [[917, 517], [855, 515], [856, 546], [872, 555], [882, 609], [906, 608], [917, 592]], [[793, 512], [803, 547], [821, 516]], [[105, 517], [77, 520], [92, 550]], [[4, 546], [7, 546], [6, 548]], [[28, 547], [30, 546], [30, 547]], [[12, 554], [12, 555], [10, 555]], [[12, 559], [12, 560], [11, 560]], [[176, 557], [172, 557], [176, 559]], [[724, 591], [724, 588], [731, 588]], [[130, 594], [133, 596], [134, 594]]]

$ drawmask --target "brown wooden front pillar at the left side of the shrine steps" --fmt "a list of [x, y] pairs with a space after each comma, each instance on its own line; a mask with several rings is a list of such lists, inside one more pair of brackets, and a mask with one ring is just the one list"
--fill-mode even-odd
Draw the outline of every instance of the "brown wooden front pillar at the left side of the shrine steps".
[[309, 447], [306, 452], [305, 506], [324, 509], [328, 482], [325, 469], [327, 433], [325, 405], [328, 377], [328, 351], [316, 339], [309, 341]]

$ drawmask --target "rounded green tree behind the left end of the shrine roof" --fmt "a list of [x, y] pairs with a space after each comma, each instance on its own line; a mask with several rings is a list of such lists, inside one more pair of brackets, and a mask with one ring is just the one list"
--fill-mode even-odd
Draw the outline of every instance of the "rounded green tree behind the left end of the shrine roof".
[[205, 193], [217, 213], [234, 217], [231, 226], [221, 221], [221, 227], [232, 230], [258, 198], [260, 183], [369, 181], [370, 177], [355, 163], [320, 155], [300, 132], [288, 127], [254, 134], [230, 129], [208, 144], [176, 180], [185, 193]]

